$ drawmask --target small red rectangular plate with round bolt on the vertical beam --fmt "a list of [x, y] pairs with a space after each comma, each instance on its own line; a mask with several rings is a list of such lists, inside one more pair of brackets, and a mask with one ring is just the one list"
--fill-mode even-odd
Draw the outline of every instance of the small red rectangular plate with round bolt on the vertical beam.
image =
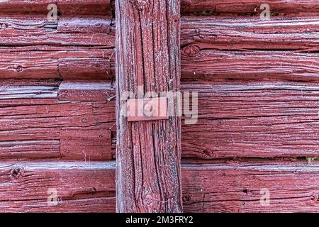
[[167, 97], [128, 99], [128, 121], [154, 121], [168, 119]]

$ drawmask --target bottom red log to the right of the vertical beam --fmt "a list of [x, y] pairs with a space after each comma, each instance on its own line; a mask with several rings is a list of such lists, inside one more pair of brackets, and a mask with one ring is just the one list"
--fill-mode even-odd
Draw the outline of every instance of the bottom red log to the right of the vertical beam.
[[[186, 212], [318, 212], [318, 163], [184, 164], [181, 174]], [[114, 179], [108, 184], [113, 189]], [[269, 190], [269, 206], [260, 204], [262, 189]], [[115, 211], [114, 201], [105, 211]]]

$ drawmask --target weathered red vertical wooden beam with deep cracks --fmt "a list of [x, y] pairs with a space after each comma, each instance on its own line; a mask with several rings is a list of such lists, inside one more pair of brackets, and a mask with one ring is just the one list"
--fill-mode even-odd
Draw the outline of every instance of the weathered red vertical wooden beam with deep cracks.
[[181, 212], [181, 120], [130, 121], [125, 92], [179, 92], [179, 0], [116, 0], [118, 212]]

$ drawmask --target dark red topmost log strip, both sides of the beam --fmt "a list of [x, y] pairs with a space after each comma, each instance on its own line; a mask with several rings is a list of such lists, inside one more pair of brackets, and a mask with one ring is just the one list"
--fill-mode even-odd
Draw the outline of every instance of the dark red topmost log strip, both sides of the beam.
[[[114, 1], [110, 0], [58, 0], [57, 4], [60, 16], [111, 16], [114, 10]], [[181, 13], [194, 13], [197, 16], [257, 16], [262, 12], [260, 6], [262, 0], [181, 0]], [[50, 0], [22, 1], [8, 0], [0, 3], [1, 15], [44, 15], [47, 14], [47, 5]], [[269, 4], [272, 15], [283, 16], [318, 16], [319, 6], [316, 0], [270, 0]]]

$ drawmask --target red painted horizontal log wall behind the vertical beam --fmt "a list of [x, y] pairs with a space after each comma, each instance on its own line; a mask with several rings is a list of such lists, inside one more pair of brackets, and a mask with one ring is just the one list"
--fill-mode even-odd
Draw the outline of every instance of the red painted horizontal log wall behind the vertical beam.
[[[114, 4], [56, 2], [0, 3], [0, 211], [113, 212]], [[319, 1], [263, 3], [181, 1], [184, 211], [319, 210]]]

